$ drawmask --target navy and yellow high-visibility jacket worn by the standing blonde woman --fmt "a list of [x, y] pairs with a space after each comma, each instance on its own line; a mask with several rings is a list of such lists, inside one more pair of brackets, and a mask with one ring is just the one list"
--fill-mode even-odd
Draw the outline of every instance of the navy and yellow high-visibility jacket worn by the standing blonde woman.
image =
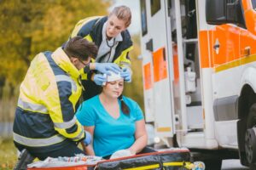
[[[71, 37], [84, 37], [90, 42], [95, 42], [96, 46], [100, 47], [102, 43], [102, 27], [107, 20], [107, 16], [93, 16], [85, 18], [84, 20], [79, 20], [73, 29]], [[129, 58], [128, 54], [133, 48], [131, 36], [127, 30], [122, 31], [121, 36], [123, 37], [123, 41], [119, 42], [119, 45], [115, 49], [115, 54], [113, 55], [113, 63], [121, 67], [130, 67], [131, 59]], [[92, 59], [92, 62], [95, 62], [95, 60]], [[87, 80], [87, 78], [90, 77], [90, 73], [88, 75], [85, 72], [83, 73], [84, 74], [82, 74], [82, 79]]]

